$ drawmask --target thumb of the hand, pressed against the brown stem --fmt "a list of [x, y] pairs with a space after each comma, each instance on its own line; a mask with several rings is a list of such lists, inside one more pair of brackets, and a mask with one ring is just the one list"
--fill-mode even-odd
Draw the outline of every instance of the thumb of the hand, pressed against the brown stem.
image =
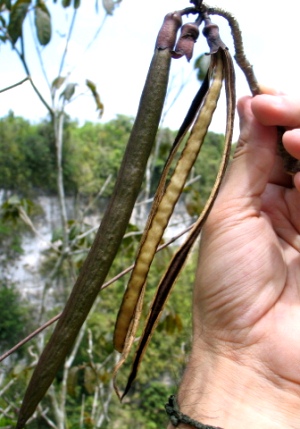
[[262, 125], [251, 108], [253, 98], [243, 97], [237, 108], [240, 137], [225, 176], [218, 203], [257, 210], [257, 198], [264, 192], [275, 165], [277, 131]]

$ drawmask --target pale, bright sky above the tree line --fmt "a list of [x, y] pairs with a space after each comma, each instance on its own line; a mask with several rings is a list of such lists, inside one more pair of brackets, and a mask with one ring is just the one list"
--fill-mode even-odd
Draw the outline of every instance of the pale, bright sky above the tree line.
[[[169, 11], [189, 6], [189, 1], [123, 0], [114, 15], [106, 19], [97, 41], [86, 53], [85, 47], [101, 24], [104, 13], [101, 7], [99, 14], [95, 13], [95, 2], [92, 0], [82, 3], [63, 73], [67, 74], [75, 66], [69, 82], [78, 83], [76, 88], [78, 97], [68, 106], [67, 111], [81, 123], [86, 120], [98, 120], [93, 100], [87, 95], [84, 85], [85, 79], [88, 78], [96, 83], [104, 103], [105, 110], [101, 121], [106, 122], [116, 114], [134, 116], [163, 17]], [[99, 3], [101, 4], [101, 1]], [[70, 23], [72, 10], [71, 8], [62, 10], [59, 5], [53, 6], [52, 0], [48, 0], [47, 4], [53, 14], [54, 31], [53, 41], [44, 48], [42, 56], [51, 82], [57, 77], [64, 49], [62, 34], [66, 32]], [[284, 10], [283, 6], [279, 7], [282, 4]], [[239, 20], [246, 53], [254, 65], [259, 81], [288, 93], [300, 94], [298, 80], [300, 3], [294, 0], [285, 0], [284, 3], [271, 0], [215, 0], [214, 5], [233, 12]], [[289, 11], [289, 14], [286, 11]], [[190, 19], [192, 20], [192, 17]], [[227, 23], [217, 17], [213, 20], [220, 25], [221, 36], [232, 52]], [[29, 22], [27, 26], [29, 31], [26, 33], [28, 46], [26, 54], [32, 77], [50, 102], [49, 89], [44, 82], [31, 41]], [[194, 58], [206, 51], [206, 42], [200, 37]], [[25, 77], [16, 54], [8, 44], [1, 46], [0, 58], [0, 88]], [[165, 120], [166, 125], [175, 129], [180, 125], [198, 88], [193, 72], [193, 60], [190, 63], [185, 59], [174, 60], [170, 82], [172, 92], [169, 103], [181, 84], [188, 82]], [[249, 93], [239, 70], [237, 70], [237, 92], [238, 96]], [[221, 100], [212, 124], [212, 129], [217, 132], [224, 131], [224, 108], [224, 100]], [[29, 83], [0, 94], [0, 117], [6, 115], [10, 109], [32, 121], [39, 121], [46, 115], [46, 110]]]

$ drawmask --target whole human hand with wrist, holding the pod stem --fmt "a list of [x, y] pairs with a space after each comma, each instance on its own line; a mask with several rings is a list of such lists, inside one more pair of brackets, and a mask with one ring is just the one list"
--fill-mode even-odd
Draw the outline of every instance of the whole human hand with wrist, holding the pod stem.
[[[300, 101], [239, 101], [234, 160], [203, 230], [179, 405], [225, 429], [300, 427]], [[184, 426], [180, 426], [184, 427]]]

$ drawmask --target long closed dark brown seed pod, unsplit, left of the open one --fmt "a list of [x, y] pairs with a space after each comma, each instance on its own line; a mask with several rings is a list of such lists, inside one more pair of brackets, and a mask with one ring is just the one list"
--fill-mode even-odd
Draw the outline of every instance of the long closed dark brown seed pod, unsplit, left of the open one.
[[[19, 412], [16, 429], [22, 429], [62, 366], [115, 258], [138, 196], [148, 157], [155, 141], [165, 100], [171, 63], [170, 41], [181, 24], [178, 15], [166, 32], [167, 48], [155, 48], [137, 117], [129, 138], [112, 198], [92, 248], [85, 260], [59, 322], [33, 372]], [[169, 23], [168, 23], [169, 25]], [[160, 43], [163, 43], [160, 33]], [[175, 34], [175, 36], [174, 36]], [[171, 43], [172, 44], [172, 43]]]

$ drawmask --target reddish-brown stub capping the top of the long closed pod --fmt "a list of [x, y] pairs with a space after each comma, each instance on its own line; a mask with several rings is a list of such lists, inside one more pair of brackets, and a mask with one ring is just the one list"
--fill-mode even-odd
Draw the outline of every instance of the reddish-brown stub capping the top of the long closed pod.
[[172, 51], [176, 42], [177, 31], [181, 25], [182, 18], [179, 12], [168, 13], [158, 33], [155, 45], [156, 49], [169, 49]]

